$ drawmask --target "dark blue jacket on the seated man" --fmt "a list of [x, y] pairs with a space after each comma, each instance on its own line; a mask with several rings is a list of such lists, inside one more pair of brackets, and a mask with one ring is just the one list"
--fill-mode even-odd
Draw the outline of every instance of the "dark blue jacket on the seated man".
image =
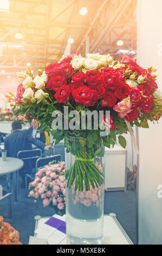
[[7, 138], [4, 139], [4, 148], [7, 149], [7, 156], [17, 157], [17, 153], [20, 150], [32, 149], [32, 144], [37, 148], [44, 149], [46, 146], [39, 139], [31, 136], [31, 131], [28, 130], [16, 130]]

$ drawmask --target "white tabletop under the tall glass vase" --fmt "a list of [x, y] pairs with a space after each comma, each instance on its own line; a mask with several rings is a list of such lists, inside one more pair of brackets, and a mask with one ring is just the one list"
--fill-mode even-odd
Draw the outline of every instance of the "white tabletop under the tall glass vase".
[[[121, 227], [120, 223], [118, 222], [117, 218], [115, 217], [115, 214], [109, 214], [109, 215], [104, 215], [103, 219], [103, 245], [133, 245], [131, 239], [128, 237], [127, 233], [125, 230]], [[54, 215], [54, 217], [59, 218], [60, 220], [65, 220], [64, 216], [59, 216]], [[62, 239], [59, 243], [56, 243], [58, 240], [58, 235], [57, 237], [55, 235], [55, 230], [54, 228], [49, 227], [47, 224], [44, 224], [49, 217], [41, 217], [40, 220], [38, 220], [37, 223], [37, 230], [38, 233], [36, 232], [36, 237], [42, 238], [42, 239], [47, 239], [49, 245], [66, 245], [66, 237]], [[44, 226], [45, 225], [45, 226]], [[47, 230], [49, 229], [49, 230]], [[51, 229], [54, 229], [54, 233], [50, 234], [50, 236], [45, 235], [51, 232]], [[46, 231], [46, 232], [45, 232]]]

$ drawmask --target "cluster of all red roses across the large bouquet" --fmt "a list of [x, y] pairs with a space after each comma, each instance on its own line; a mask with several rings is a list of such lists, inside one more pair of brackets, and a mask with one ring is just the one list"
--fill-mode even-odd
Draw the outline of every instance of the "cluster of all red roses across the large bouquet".
[[[47, 89], [55, 92], [54, 97], [59, 103], [66, 103], [69, 99], [74, 99], [76, 103], [83, 106], [94, 106], [101, 100], [102, 107], [112, 108], [116, 103], [130, 97], [131, 111], [124, 117], [128, 121], [138, 118], [140, 111], [148, 113], [153, 103], [152, 90], [158, 88], [152, 75], [141, 68], [134, 59], [129, 56], [121, 56], [121, 63], [124, 67], [113, 69], [105, 67], [98, 70], [76, 72], [70, 61], [79, 53], [61, 60], [60, 63], [52, 63], [47, 66], [48, 74]], [[138, 87], [130, 87], [125, 82], [124, 72], [131, 70], [131, 74], [137, 72], [138, 76], [144, 77], [144, 84]], [[129, 79], [129, 76], [126, 77]]]

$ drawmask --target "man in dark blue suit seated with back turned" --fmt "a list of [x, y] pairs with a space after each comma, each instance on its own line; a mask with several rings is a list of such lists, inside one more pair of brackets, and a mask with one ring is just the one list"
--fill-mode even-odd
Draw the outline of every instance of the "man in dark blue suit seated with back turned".
[[[20, 121], [14, 121], [12, 123], [12, 130], [13, 132], [4, 139], [4, 148], [7, 149], [7, 156], [9, 157], [17, 157], [18, 151], [32, 149], [32, 144], [36, 145], [36, 147], [42, 150], [53, 148], [51, 145], [46, 146], [39, 139], [32, 137], [29, 130], [22, 130], [22, 124]], [[21, 184], [22, 187], [25, 186], [25, 173], [32, 172], [32, 165], [30, 160], [24, 161], [23, 169], [21, 169], [19, 172], [23, 180]]]

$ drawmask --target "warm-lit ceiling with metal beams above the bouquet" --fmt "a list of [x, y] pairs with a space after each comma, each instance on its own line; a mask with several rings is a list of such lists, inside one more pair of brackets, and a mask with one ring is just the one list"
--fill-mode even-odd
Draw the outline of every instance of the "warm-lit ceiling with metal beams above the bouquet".
[[[79, 14], [83, 6], [85, 16]], [[135, 57], [136, 8], [137, 0], [10, 0], [10, 11], [0, 10], [0, 71], [16, 75], [27, 62], [33, 70], [44, 68], [62, 58], [70, 36], [71, 52], [118, 58], [122, 49]], [[117, 46], [118, 40], [124, 45]]]

